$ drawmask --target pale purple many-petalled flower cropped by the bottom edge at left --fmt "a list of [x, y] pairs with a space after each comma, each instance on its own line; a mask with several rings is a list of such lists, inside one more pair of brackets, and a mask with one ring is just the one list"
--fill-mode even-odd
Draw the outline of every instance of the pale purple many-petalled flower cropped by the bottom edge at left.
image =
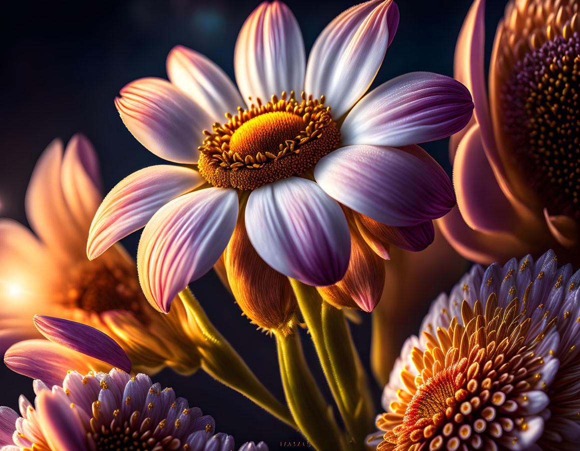
[[[13, 434], [17, 449], [60, 451], [58, 443], [63, 440], [76, 443], [79, 451], [234, 448], [231, 436], [213, 434], [211, 416], [190, 408], [171, 388], [151, 384], [145, 374], [131, 377], [113, 369], [83, 376], [71, 371], [62, 387], [50, 390], [40, 381], [35, 383], [34, 406], [20, 397], [22, 418], [16, 420]], [[3, 415], [6, 424], [6, 412]]]

